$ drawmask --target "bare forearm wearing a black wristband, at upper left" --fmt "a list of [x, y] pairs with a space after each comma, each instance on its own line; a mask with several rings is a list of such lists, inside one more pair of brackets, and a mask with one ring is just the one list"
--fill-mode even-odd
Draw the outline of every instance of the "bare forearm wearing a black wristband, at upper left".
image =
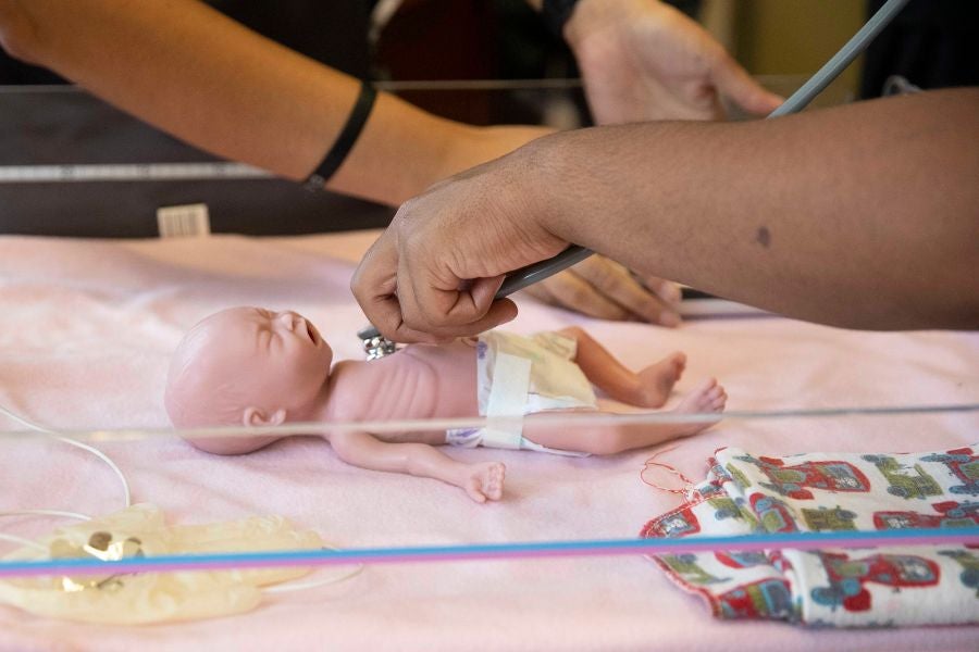
[[[0, 0], [0, 39], [183, 140], [297, 180], [359, 87], [193, 0]], [[463, 129], [382, 93], [331, 188], [398, 203], [455, 172]]]

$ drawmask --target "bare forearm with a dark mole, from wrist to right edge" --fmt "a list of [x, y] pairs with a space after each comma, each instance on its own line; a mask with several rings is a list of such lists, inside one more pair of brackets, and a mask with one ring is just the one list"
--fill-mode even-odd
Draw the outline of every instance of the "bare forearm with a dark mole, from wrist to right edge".
[[979, 326], [979, 91], [525, 148], [548, 228], [630, 267], [805, 319]]

